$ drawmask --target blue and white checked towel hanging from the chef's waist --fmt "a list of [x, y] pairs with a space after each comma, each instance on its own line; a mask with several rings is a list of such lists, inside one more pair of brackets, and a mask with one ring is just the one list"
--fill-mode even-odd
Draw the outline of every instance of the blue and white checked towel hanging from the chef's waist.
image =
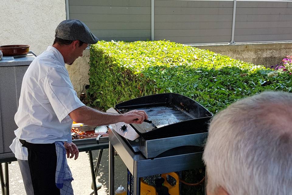
[[60, 189], [61, 195], [73, 195], [73, 188], [71, 185], [73, 177], [67, 164], [64, 142], [57, 141], [55, 142], [55, 145], [57, 153], [57, 168], [55, 176], [56, 186]]

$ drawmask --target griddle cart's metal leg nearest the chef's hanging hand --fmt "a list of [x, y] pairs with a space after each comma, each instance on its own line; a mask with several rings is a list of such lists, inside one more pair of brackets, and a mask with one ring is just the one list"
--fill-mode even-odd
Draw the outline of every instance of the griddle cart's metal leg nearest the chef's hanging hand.
[[109, 195], [115, 194], [114, 184], [115, 184], [115, 155], [114, 147], [109, 141]]

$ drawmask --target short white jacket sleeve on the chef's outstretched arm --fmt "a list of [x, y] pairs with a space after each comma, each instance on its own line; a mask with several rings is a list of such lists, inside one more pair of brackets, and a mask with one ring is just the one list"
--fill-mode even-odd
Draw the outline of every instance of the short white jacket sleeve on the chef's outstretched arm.
[[[85, 106], [78, 98], [70, 81], [68, 71], [63, 66], [55, 66], [44, 78], [44, 91], [60, 122], [68, 120], [68, 114]], [[71, 120], [71, 118], [70, 118]]]

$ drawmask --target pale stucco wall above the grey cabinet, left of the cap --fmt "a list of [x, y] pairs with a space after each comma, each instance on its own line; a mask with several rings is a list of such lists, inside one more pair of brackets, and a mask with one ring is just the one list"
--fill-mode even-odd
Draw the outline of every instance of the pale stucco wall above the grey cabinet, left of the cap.
[[27, 44], [39, 55], [65, 19], [65, 0], [0, 0], [0, 45]]

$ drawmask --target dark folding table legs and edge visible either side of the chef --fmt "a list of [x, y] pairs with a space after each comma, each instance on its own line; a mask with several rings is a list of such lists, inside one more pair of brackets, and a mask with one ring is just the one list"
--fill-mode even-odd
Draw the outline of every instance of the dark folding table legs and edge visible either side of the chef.
[[[101, 160], [101, 156], [103, 154], [103, 149], [109, 148], [109, 143], [99, 143], [99, 144], [84, 144], [77, 145], [79, 152], [89, 152], [89, 162], [92, 176], [92, 189], [94, 190], [91, 194], [97, 195], [97, 187], [96, 187], [96, 176], [99, 169], [99, 164]], [[99, 150], [98, 158], [96, 162], [96, 167], [93, 165], [92, 151]], [[0, 159], [0, 181], [1, 181], [1, 190], [3, 195], [9, 195], [9, 174], [8, 174], [8, 164], [13, 161], [17, 161], [15, 157], [9, 158], [1, 158]], [[5, 163], [5, 174], [3, 174], [2, 163]], [[5, 176], [5, 178], [4, 178]]]

